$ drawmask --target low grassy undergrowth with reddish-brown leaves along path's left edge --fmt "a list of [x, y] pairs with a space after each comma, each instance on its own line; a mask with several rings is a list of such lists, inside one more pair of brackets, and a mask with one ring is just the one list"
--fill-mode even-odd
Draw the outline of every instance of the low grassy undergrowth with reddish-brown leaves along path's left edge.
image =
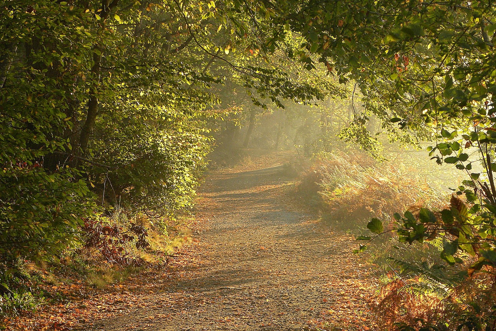
[[[187, 216], [150, 217], [116, 208], [98, 221], [86, 221], [81, 243], [59, 259], [12, 262], [0, 273], [0, 317], [35, 312], [45, 304], [64, 304], [76, 297], [58, 291], [62, 284], [104, 289], [161, 268], [189, 242]], [[83, 291], [84, 292], [84, 291]]]

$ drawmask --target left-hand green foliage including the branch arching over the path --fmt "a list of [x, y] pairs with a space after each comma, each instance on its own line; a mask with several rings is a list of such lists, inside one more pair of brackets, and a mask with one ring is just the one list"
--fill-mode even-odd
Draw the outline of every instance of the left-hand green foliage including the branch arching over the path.
[[272, 28], [248, 35], [236, 2], [21, 0], [0, 14], [6, 269], [56, 260], [119, 204], [171, 217], [189, 208], [225, 77], [262, 109], [340, 90], [288, 69], [291, 38], [261, 47]]

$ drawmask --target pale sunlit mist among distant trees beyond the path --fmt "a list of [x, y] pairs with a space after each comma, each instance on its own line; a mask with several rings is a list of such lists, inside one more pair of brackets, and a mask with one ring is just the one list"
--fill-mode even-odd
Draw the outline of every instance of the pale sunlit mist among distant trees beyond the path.
[[[236, 95], [233, 90], [228, 95]], [[229, 104], [227, 116], [211, 125], [215, 137], [213, 163], [223, 162], [226, 155], [239, 155], [234, 150], [265, 149], [290, 151], [304, 163], [318, 159], [326, 153], [344, 152], [374, 159], [377, 164], [388, 162], [405, 169], [406, 176], [424, 177], [443, 191], [453, 192], [464, 176], [447, 164], [437, 164], [427, 151], [435, 145], [428, 135], [409, 136], [405, 132], [388, 134], [377, 116], [366, 116], [364, 101], [360, 96], [316, 101], [309, 105], [284, 103], [284, 109], [275, 105], [261, 109], [249, 99], [240, 105]], [[233, 111], [234, 110], [234, 111]], [[366, 117], [365, 121], [357, 119]], [[373, 145], [363, 145], [360, 136], [353, 136], [357, 126]], [[431, 139], [430, 139], [431, 138]], [[227, 154], [216, 157], [216, 154]], [[436, 154], [434, 154], [436, 155]], [[229, 158], [229, 156], [227, 156]], [[450, 183], [450, 184], [447, 184]]]

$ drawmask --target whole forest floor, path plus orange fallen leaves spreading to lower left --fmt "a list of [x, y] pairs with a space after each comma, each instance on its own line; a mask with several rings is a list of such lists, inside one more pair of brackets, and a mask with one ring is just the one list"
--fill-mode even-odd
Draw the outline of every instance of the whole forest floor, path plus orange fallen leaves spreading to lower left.
[[207, 175], [189, 243], [166, 267], [104, 288], [61, 282], [54, 291], [73, 301], [5, 320], [7, 330], [377, 329], [378, 280], [352, 254], [357, 241], [296, 196], [283, 166], [294, 155], [250, 153]]

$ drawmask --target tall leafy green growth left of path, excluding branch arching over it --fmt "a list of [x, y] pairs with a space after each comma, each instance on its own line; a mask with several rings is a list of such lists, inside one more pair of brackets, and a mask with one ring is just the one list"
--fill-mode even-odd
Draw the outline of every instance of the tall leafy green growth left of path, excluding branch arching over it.
[[[190, 54], [151, 49], [148, 11], [119, 2], [0, 8], [1, 272], [59, 259], [109, 204], [190, 206], [208, 149], [198, 118], [216, 103], [205, 89], [217, 80], [184, 63]], [[143, 35], [124, 28], [136, 24]]]

